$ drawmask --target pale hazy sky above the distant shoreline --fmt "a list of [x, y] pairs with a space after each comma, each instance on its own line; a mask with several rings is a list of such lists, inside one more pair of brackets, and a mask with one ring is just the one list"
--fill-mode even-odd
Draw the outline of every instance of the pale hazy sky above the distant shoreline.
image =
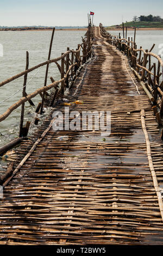
[[0, 26], [86, 26], [87, 13], [94, 24], [118, 25], [134, 16], [161, 16], [162, 0], [0, 0]]

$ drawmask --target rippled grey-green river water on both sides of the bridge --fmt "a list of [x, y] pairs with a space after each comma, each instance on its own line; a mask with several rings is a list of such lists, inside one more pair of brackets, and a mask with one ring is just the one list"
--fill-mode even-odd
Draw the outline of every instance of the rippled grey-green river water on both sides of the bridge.
[[[109, 31], [111, 34], [116, 34], [122, 31]], [[45, 62], [48, 56], [49, 41], [52, 31], [1, 31], [0, 44], [3, 45], [3, 57], [0, 57], [0, 81], [18, 74], [23, 71], [26, 66], [26, 51], [29, 52], [29, 68], [41, 62]], [[67, 47], [76, 49], [77, 45], [82, 42], [82, 36], [85, 31], [55, 31], [52, 47], [51, 58], [59, 57], [62, 52], [65, 52]], [[127, 36], [134, 37], [134, 31], [128, 31]], [[136, 44], [137, 48], [142, 46], [144, 49], [150, 49], [155, 44], [153, 52], [159, 54], [163, 44], [163, 31], [137, 31]], [[34, 92], [35, 89], [43, 86], [46, 66], [38, 70], [34, 70], [28, 74], [27, 93]], [[38, 71], [38, 72], [37, 72]], [[36, 73], [37, 72], [37, 73]], [[33, 77], [34, 76], [34, 77]], [[52, 76], [54, 80], [60, 78], [57, 66], [52, 63], [49, 68], [48, 77]], [[32, 80], [30, 80], [32, 78]], [[48, 78], [47, 84], [51, 83]], [[23, 77], [6, 84], [0, 88], [0, 102], [7, 99], [10, 95], [17, 92], [22, 87]], [[20, 99], [20, 92], [13, 95], [10, 99], [0, 103], [0, 113]], [[40, 101], [40, 96], [33, 99], [35, 105]], [[12, 114], [0, 123], [0, 145], [4, 145], [11, 139], [18, 136], [18, 126], [20, 124], [20, 109], [18, 107]], [[32, 119], [35, 108], [26, 103], [26, 120]]]

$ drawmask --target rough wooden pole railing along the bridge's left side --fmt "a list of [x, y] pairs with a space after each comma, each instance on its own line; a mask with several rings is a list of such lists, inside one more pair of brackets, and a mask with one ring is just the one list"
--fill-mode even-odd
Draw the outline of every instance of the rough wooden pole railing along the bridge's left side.
[[[42, 102], [39, 103], [39, 105], [36, 108], [36, 113], [40, 111], [40, 114], [42, 114], [43, 105], [45, 103], [45, 95], [49, 95], [47, 91], [49, 89], [54, 88], [55, 92], [53, 94], [52, 100], [49, 103], [49, 106], [53, 106], [54, 101], [57, 99], [61, 99], [65, 94], [65, 88], [70, 88], [72, 84], [74, 83], [74, 80], [76, 79], [77, 75], [83, 68], [83, 64], [87, 61], [87, 59], [90, 58], [92, 53], [91, 48], [91, 38], [93, 33], [93, 28], [91, 26], [88, 27], [88, 30], [85, 34], [85, 38], [82, 37], [83, 43], [78, 44], [76, 50], [70, 50], [70, 48], [67, 48], [67, 51], [65, 53], [61, 53], [61, 56], [55, 59], [50, 59], [51, 57], [51, 49], [52, 49], [52, 42], [53, 42], [53, 35], [54, 35], [55, 28], [52, 32], [52, 38], [51, 38], [51, 44], [49, 47], [49, 54], [48, 54], [48, 60], [46, 62], [40, 63], [36, 66], [33, 66], [32, 68], [29, 68], [29, 56], [28, 52], [26, 55], [26, 70], [22, 71], [21, 73], [12, 76], [8, 78], [7, 80], [0, 83], [0, 87], [5, 86], [6, 84], [10, 83], [11, 81], [16, 80], [19, 77], [24, 76], [24, 83], [23, 83], [23, 92], [22, 97], [20, 100], [12, 104], [3, 114], [0, 115], [0, 122], [5, 120], [16, 108], [19, 106], [22, 106], [21, 109], [21, 121], [20, 121], [20, 138], [26, 137], [29, 130], [30, 123], [27, 122], [26, 126], [23, 127], [23, 120], [24, 120], [24, 103], [29, 102], [30, 105], [34, 106], [34, 103], [32, 99], [36, 95], [40, 95], [42, 98]], [[59, 60], [61, 61], [61, 64], [59, 64]], [[48, 76], [48, 67], [50, 63], [55, 63], [58, 67], [58, 70], [60, 72], [60, 80], [54, 81], [53, 77], [51, 78], [52, 83], [47, 85], [47, 76]], [[27, 94], [26, 93], [26, 85], [27, 85], [27, 76], [29, 72], [32, 72], [33, 70], [39, 69], [41, 66], [46, 65], [46, 74], [45, 74], [45, 82], [44, 86], [41, 88], [38, 88], [35, 90], [35, 92]], [[35, 120], [35, 124], [37, 124], [37, 120]], [[1, 154], [1, 150], [0, 150]]]

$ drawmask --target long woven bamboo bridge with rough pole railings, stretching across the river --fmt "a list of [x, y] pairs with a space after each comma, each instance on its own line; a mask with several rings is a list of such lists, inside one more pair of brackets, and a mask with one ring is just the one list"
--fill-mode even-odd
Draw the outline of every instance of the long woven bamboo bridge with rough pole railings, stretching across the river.
[[[58, 60], [49, 56], [44, 64]], [[33, 136], [20, 136], [15, 159], [1, 173], [0, 245], [162, 245], [162, 60], [101, 24], [60, 60], [59, 82], [51, 78], [52, 84], [23, 94], [0, 116], [36, 93], [45, 103], [46, 91], [55, 88], [51, 113]], [[25, 84], [30, 70], [27, 65], [21, 73]], [[94, 130], [54, 132], [53, 112], [66, 105], [55, 104], [56, 96], [66, 87], [70, 111], [111, 111], [108, 138]], [[83, 104], [72, 103], [77, 100]]]

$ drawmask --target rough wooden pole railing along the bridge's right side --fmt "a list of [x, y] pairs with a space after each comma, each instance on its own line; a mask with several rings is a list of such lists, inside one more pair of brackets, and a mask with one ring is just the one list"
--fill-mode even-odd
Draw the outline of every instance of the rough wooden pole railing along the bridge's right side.
[[[152, 53], [153, 47], [155, 45], [153, 44], [152, 48], [149, 51], [143, 50], [142, 47], [137, 49], [137, 45], [135, 42], [135, 33], [134, 40], [133, 38], [131, 38], [130, 40], [129, 37], [127, 40], [127, 34], [126, 38], [124, 38], [124, 30], [123, 38], [121, 38], [120, 33], [118, 36], [108, 33], [101, 23], [99, 24], [99, 28], [103, 38], [105, 38], [105, 40], [109, 44], [117, 47], [118, 50], [123, 52], [128, 57], [131, 65], [131, 70], [134, 72], [137, 79], [141, 82], [143, 89], [147, 93], [149, 99], [152, 101], [156, 118], [158, 120], [158, 123], [161, 124], [160, 117], [162, 117], [163, 115], [163, 62], [160, 56]], [[157, 63], [154, 62], [152, 64], [151, 57], [153, 57], [157, 61]], [[157, 107], [159, 107], [159, 112], [157, 110]]]

